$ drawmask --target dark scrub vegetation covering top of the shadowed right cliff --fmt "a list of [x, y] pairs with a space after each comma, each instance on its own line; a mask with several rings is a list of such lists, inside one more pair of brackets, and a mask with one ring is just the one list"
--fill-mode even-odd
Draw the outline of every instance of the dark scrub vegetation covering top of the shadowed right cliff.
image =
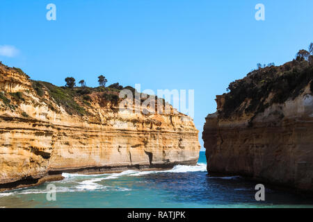
[[[284, 103], [295, 99], [310, 84], [313, 92], [313, 44], [309, 51], [304, 49], [296, 53], [296, 58], [281, 66], [257, 65], [245, 78], [235, 80], [223, 94], [225, 103], [220, 117], [232, 114], [263, 112], [273, 103]], [[271, 99], [268, 96], [271, 95]]]

